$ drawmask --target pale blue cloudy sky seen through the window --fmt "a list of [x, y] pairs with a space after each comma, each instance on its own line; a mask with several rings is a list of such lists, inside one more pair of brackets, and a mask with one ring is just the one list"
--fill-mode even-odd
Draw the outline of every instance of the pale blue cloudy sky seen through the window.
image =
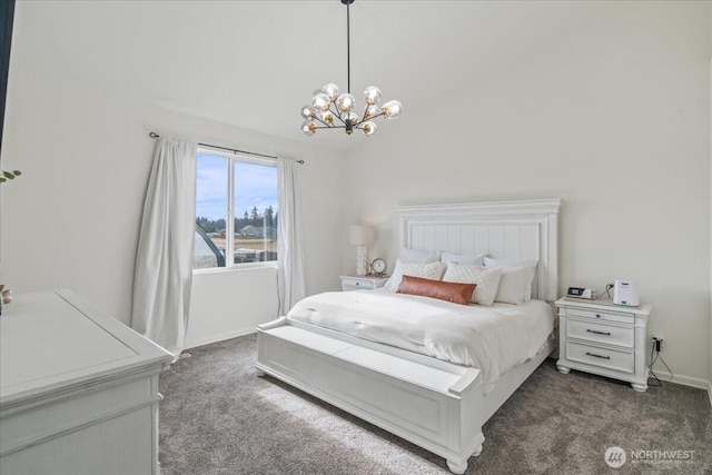
[[[225, 219], [227, 215], [228, 159], [198, 152], [196, 216]], [[277, 211], [277, 167], [235, 162], [235, 217], [251, 212], [256, 206], [260, 215], [265, 208]]]

